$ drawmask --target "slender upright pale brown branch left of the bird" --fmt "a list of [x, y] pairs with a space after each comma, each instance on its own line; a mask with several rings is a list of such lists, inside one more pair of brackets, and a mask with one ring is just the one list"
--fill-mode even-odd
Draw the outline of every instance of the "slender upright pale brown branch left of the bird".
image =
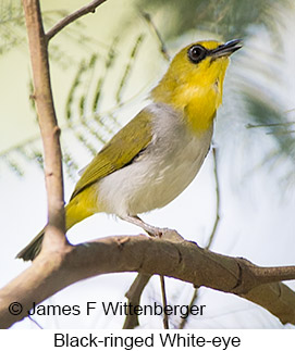
[[45, 239], [50, 250], [66, 243], [60, 128], [51, 91], [48, 48], [38, 0], [23, 0], [30, 53], [34, 96], [45, 153], [48, 226]]

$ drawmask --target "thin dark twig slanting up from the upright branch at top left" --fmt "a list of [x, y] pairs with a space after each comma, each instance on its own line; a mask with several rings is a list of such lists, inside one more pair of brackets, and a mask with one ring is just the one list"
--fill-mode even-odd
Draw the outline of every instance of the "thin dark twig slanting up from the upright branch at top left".
[[98, 8], [101, 3], [106, 2], [107, 0], [94, 0], [86, 4], [85, 7], [74, 11], [73, 13], [69, 14], [60, 22], [58, 22], [51, 29], [49, 29], [46, 34], [46, 38], [49, 41], [52, 37], [54, 37], [59, 32], [61, 32], [65, 26], [71, 24], [72, 22], [76, 21], [77, 18], [84, 16], [85, 14], [93, 12], [95, 13], [96, 8]]

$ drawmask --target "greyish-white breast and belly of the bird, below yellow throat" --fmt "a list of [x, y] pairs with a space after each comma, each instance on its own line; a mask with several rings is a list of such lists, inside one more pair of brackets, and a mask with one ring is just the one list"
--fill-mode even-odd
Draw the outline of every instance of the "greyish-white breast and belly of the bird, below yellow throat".
[[157, 115], [152, 141], [135, 162], [98, 183], [103, 212], [124, 216], [164, 206], [195, 178], [207, 155], [212, 128], [193, 136], [169, 106], [147, 109]]

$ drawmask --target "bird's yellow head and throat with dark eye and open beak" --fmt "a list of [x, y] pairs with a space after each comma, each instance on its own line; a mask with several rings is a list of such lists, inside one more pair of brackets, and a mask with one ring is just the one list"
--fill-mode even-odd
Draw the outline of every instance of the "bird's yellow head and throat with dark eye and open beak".
[[185, 47], [151, 91], [152, 99], [176, 110], [190, 111], [199, 121], [212, 117], [222, 102], [229, 57], [241, 48], [239, 39], [225, 43], [206, 40]]

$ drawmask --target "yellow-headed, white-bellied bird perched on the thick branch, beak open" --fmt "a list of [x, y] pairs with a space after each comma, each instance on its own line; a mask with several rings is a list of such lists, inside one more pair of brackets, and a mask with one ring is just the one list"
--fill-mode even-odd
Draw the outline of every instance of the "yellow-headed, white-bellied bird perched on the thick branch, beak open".
[[[161, 236], [138, 214], [165, 206], [196, 177], [210, 150], [229, 58], [241, 48], [241, 39], [201, 40], [176, 53], [149, 103], [83, 171], [65, 206], [66, 230], [105, 212]], [[45, 228], [16, 258], [38, 255]]]

